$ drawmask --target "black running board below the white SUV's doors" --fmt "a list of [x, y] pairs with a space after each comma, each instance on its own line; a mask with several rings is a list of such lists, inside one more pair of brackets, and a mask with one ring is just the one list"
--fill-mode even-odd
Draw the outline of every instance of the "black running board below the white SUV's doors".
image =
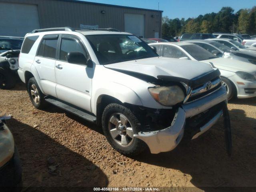
[[67, 104], [61, 100], [58, 100], [57, 98], [54, 97], [50, 97], [50, 96], [46, 96], [45, 101], [53, 104], [59, 108], [62, 108], [76, 116], [79, 116], [80, 118], [83, 118], [85, 120], [88, 120], [90, 122], [94, 122], [96, 123], [96, 116], [89, 114], [88, 112], [86, 112], [85, 110], [82, 110], [80, 108], [77, 108], [76, 106], [73, 106], [71, 104]]

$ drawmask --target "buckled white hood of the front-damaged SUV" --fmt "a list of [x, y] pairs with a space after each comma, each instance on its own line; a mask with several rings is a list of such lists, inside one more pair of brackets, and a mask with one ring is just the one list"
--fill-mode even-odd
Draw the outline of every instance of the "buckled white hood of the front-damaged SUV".
[[158, 78], [158, 76], [173, 76], [185, 78], [187, 80], [213, 71], [210, 64], [207, 65], [198, 61], [166, 57], [132, 60], [104, 66], [110, 69], [146, 74], [155, 78]]

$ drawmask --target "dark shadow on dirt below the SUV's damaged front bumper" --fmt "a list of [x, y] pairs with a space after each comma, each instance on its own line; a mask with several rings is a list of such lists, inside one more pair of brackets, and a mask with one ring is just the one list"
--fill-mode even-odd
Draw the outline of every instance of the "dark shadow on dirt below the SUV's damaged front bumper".
[[192, 177], [190, 182], [194, 186], [206, 191], [226, 186], [255, 187], [256, 119], [246, 117], [243, 110], [236, 109], [230, 111], [230, 119], [233, 145], [231, 157], [226, 154], [224, 126], [220, 120], [208, 134], [190, 142], [182, 142], [171, 152], [146, 152], [136, 157], [136, 160], [180, 170]]

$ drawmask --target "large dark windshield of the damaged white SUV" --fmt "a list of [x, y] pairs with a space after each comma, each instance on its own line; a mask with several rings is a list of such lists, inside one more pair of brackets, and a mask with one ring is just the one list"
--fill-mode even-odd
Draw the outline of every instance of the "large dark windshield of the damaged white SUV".
[[134, 35], [103, 34], [87, 35], [86, 38], [102, 65], [158, 56]]

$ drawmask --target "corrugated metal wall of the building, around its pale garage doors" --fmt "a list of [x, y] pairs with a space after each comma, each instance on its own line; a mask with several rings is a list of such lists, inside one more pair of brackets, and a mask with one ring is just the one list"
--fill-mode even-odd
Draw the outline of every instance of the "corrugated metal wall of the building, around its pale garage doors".
[[[60, 0], [0, 0], [0, 2], [36, 4], [41, 28], [80, 27], [80, 24], [85, 24], [124, 31], [124, 14], [131, 13], [145, 15], [145, 38], [154, 38], [155, 32], [161, 34], [161, 11]], [[102, 10], [106, 13], [102, 14]]]

